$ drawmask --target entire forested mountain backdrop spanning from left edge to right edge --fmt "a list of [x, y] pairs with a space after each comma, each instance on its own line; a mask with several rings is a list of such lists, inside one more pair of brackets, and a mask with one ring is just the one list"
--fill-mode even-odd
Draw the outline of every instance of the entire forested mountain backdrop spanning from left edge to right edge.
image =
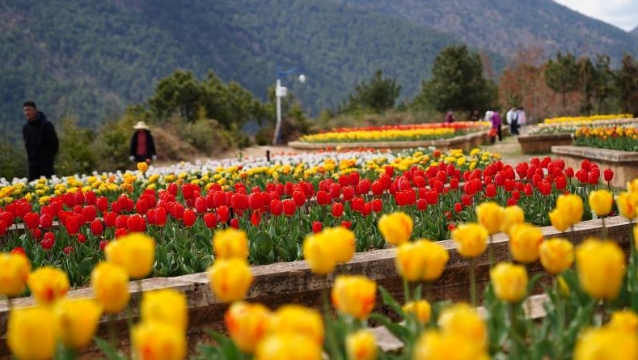
[[409, 100], [460, 42], [497, 71], [520, 47], [638, 53], [629, 33], [550, 0], [0, 0], [0, 125], [17, 128], [31, 98], [54, 120], [96, 127], [178, 68], [264, 98], [278, 66], [301, 66], [305, 84], [284, 81], [312, 115], [376, 69]]

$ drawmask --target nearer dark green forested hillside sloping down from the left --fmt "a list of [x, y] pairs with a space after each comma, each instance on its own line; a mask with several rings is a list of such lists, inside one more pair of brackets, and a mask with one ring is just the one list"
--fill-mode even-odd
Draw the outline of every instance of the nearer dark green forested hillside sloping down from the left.
[[95, 127], [177, 68], [212, 69], [263, 98], [277, 66], [297, 65], [308, 81], [286, 85], [317, 114], [376, 69], [412, 97], [454, 41], [325, 0], [0, 0], [0, 121], [19, 126], [31, 98]]

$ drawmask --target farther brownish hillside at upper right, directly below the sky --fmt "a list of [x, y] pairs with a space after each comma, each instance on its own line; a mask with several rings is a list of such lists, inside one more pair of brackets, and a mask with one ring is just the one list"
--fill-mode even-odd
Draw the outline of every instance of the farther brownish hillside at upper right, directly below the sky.
[[638, 40], [551, 0], [330, 0], [436, 29], [507, 56], [539, 46], [547, 54], [638, 54]]

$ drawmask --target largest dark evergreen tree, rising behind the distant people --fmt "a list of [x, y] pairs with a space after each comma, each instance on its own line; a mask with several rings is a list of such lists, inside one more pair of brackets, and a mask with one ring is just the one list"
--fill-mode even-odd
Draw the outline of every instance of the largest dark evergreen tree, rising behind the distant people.
[[421, 93], [415, 97], [412, 107], [469, 113], [492, 108], [497, 98], [496, 84], [483, 77], [479, 54], [470, 52], [465, 45], [450, 46], [436, 57], [432, 79], [422, 83]]

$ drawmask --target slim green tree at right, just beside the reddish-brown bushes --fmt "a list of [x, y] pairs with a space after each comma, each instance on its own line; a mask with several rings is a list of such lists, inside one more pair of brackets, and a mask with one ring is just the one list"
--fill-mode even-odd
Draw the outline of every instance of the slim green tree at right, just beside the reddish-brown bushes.
[[558, 52], [556, 60], [550, 59], [545, 66], [545, 82], [550, 89], [561, 95], [561, 104], [565, 110], [567, 93], [577, 90], [580, 82], [574, 55]]

